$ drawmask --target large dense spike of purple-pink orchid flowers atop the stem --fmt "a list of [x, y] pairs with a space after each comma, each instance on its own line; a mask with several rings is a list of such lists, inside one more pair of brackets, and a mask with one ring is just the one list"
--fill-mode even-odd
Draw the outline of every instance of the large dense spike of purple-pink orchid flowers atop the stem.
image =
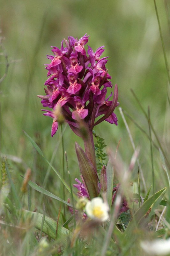
[[[111, 76], [105, 67], [107, 57], [100, 58], [104, 52], [99, 47], [96, 52], [88, 46], [87, 54], [85, 44], [89, 36], [83, 36], [79, 40], [69, 36], [68, 41], [62, 41], [61, 49], [52, 46], [53, 55], [47, 55], [51, 60], [47, 64], [48, 79], [45, 82], [45, 96], [40, 97], [43, 107], [52, 108], [53, 111], [44, 110], [45, 116], [53, 118], [51, 136], [58, 129], [59, 113], [62, 113], [65, 121], [71, 129], [78, 134], [79, 123], [83, 119], [90, 129], [106, 120], [117, 125], [117, 117], [113, 112], [118, 106], [118, 91], [115, 85], [113, 100], [106, 99], [107, 87], [112, 88], [108, 79]], [[64, 48], [63, 42], [66, 47]], [[95, 118], [102, 116], [96, 123]]]

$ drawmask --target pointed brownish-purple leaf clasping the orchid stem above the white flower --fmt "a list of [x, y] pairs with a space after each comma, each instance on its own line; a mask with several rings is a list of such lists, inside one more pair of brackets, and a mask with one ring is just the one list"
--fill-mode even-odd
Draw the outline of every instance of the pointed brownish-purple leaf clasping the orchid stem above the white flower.
[[94, 170], [91, 162], [86, 156], [83, 149], [76, 142], [76, 153], [78, 157], [78, 164], [80, 168], [80, 172], [83, 176], [83, 180], [85, 182], [85, 186], [89, 193], [90, 199], [93, 197], [97, 197], [99, 195], [98, 192], [98, 176], [96, 171]]

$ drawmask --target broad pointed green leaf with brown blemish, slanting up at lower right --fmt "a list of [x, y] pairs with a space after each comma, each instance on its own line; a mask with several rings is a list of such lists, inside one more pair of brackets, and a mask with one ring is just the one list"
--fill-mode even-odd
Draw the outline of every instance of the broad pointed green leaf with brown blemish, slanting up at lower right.
[[161, 189], [157, 193], [153, 194], [150, 198], [148, 198], [144, 204], [135, 212], [132, 217], [132, 220], [129, 222], [128, 227], [126, 228], [124, 235], [131, 236], [131, 233], [134, 229], [137, 228], [137, 225], [144, 225], [146, 221], [149, 221], [154, 210], [161, 202], [164, 194], [166, 192], [166, 188]]

